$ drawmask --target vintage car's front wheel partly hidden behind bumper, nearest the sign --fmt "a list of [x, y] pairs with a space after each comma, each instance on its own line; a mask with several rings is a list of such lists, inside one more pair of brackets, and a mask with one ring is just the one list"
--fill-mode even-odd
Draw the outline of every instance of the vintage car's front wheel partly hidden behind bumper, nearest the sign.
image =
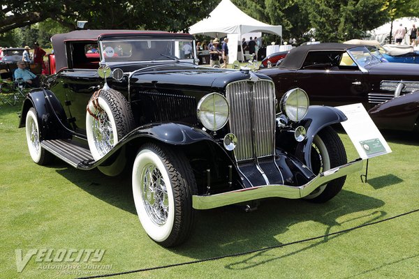
[[[297, 145], [295, 155], [304, 163], [304, 143]], [[341, 142], [339, 135], [332, 127], [323, 128], [313, 140], [311, 144], [311, 171], [314, 174], [325, 172], [333, 167], [338, 167], [348, 163], [344, 144]], [[335, 197], [344, 186], [346, 176], [334, 179], [313, 191], [305, 197], [310, 202], [327, 202]]]

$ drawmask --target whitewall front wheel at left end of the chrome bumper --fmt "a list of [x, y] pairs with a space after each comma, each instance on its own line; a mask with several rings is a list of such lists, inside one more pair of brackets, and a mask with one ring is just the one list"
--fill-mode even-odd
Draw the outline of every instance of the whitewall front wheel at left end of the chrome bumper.
[[145, 144], [135, 158], [132, 178], [135, 208], [149, 237], [165, 247], [186, 241], [195, 222], [192, 196], [198, 193], [186, 156]]

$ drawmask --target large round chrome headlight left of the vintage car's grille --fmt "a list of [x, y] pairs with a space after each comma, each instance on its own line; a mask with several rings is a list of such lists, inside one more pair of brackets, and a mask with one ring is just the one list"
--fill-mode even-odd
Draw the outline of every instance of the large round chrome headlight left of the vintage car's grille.
[[228, 103], [219, 93], [210, 93], [200, 99], [196, 110], [198, 119], [208, 130], [219, 130], [228, 120]]

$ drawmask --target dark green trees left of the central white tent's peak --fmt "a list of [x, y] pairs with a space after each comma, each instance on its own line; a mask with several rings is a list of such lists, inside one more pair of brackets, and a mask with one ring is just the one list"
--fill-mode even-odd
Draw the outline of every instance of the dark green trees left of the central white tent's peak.
[[[4, 2], [4, 3], [3, 3]], [[89, 29], [185, 31], [219, 0], [23, 0], [1, 1], [0, 33], [48, 18], [69, 27], [87, 20]]]

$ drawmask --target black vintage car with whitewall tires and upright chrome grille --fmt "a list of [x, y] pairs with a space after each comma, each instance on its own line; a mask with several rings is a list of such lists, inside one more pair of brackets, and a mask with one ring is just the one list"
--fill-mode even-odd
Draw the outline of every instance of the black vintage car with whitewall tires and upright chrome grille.
[[277, 100], [270, 77], [247, 69], [198, 66], [189, 34], [73, 31], [52, 45], [56, 73], [22, 107], [31, 158], [110, 176], [133, 167], [140, 222], [162, 246], [188, 238], [196, 209], [325, 202], [362, 167], [330, 127], [341, 111], [309, 107], [300, 89]]

